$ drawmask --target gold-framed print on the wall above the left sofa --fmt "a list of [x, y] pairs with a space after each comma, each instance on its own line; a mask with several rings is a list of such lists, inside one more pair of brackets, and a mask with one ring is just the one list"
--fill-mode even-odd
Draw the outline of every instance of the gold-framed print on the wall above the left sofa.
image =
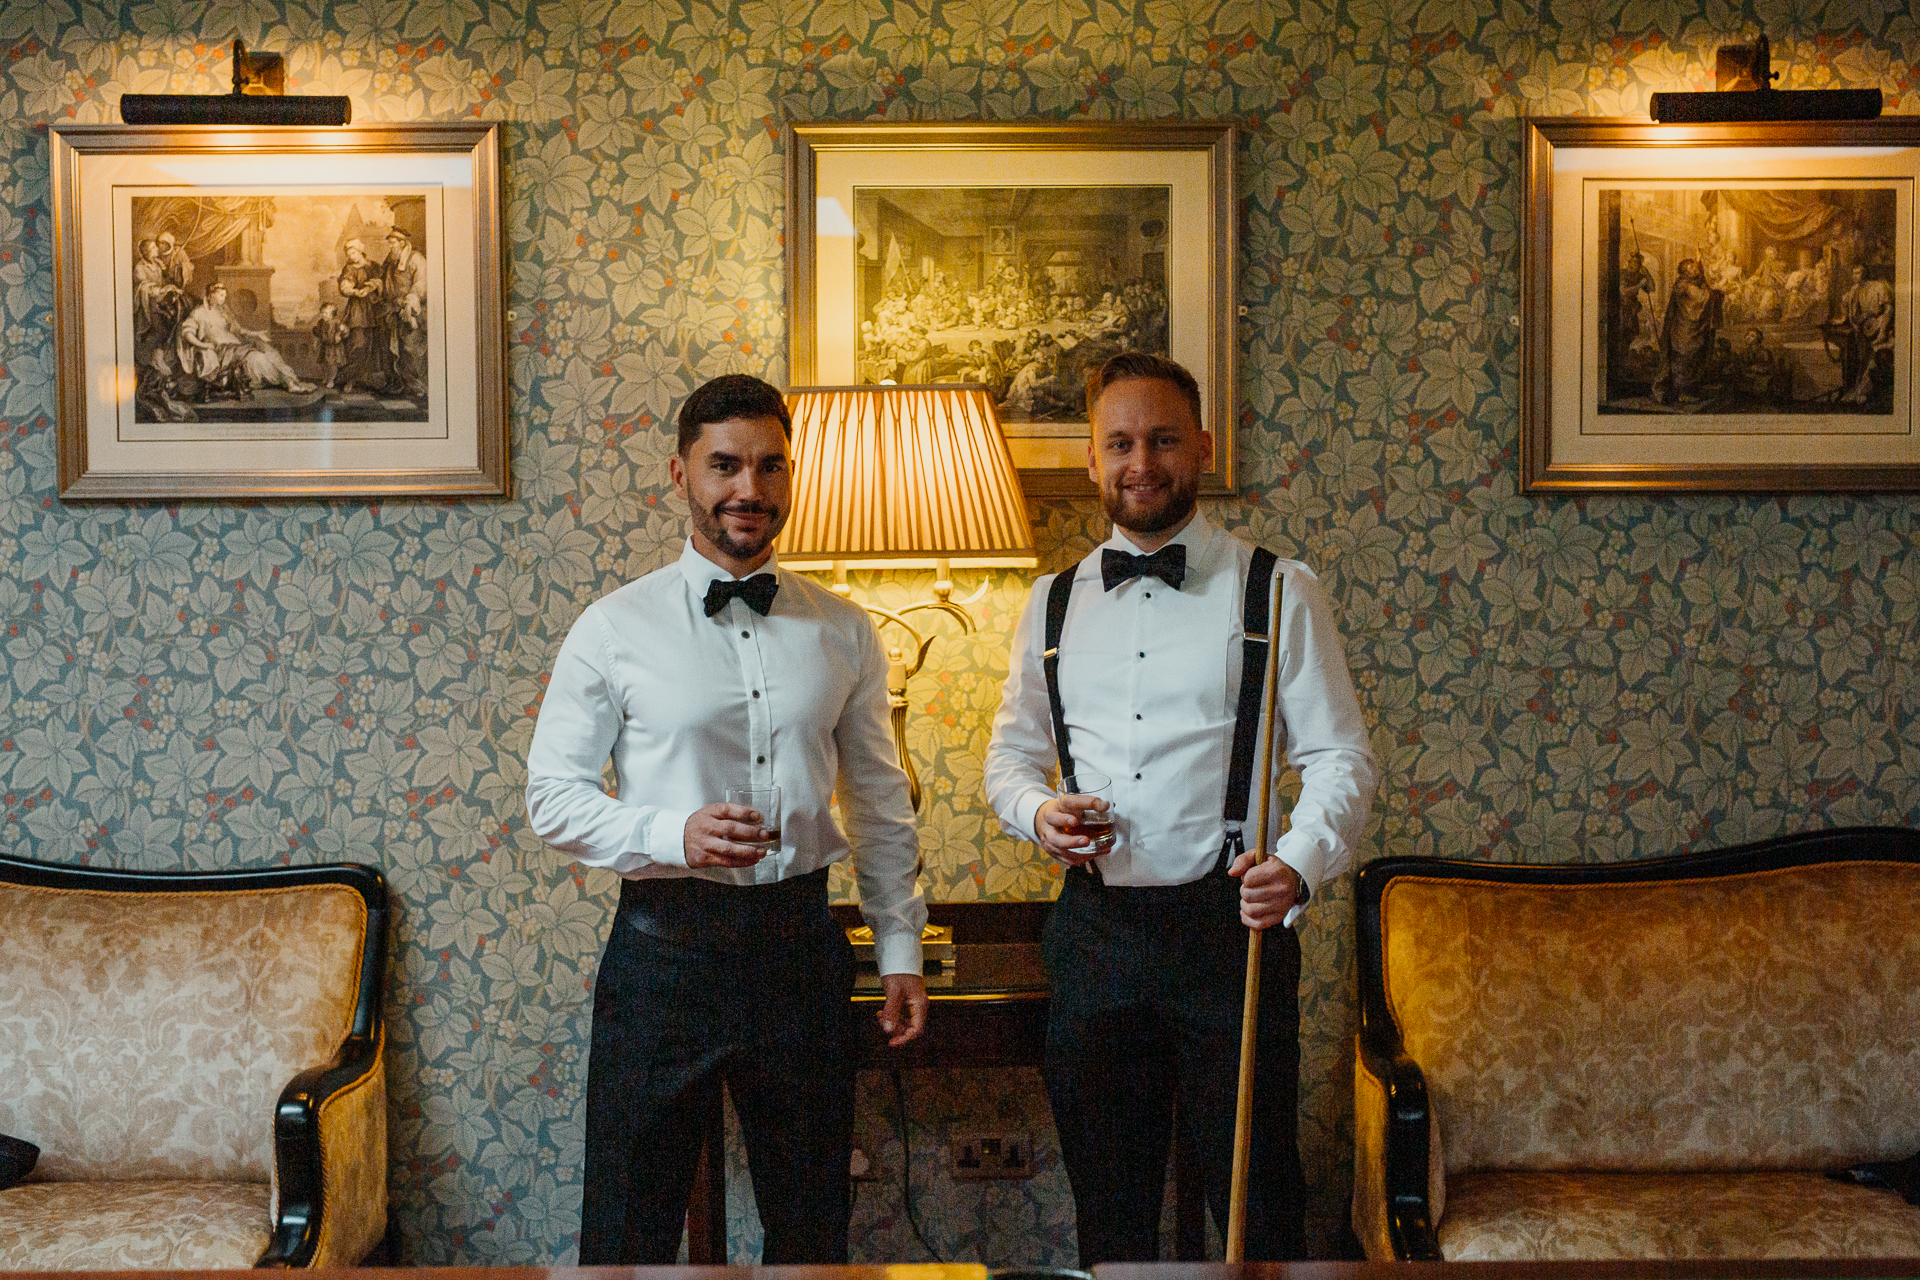
[[48, 132], [63, 501], [509, 491], [499, 123]]

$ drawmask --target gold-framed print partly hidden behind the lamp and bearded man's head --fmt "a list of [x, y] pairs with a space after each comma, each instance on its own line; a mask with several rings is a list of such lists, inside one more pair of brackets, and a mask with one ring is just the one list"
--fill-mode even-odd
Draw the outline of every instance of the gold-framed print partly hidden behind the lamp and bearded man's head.
[[789, 382], [987, 382], [1025, 491], [1085, 497], [1085, 367], [1160, 349], [1200, 382], [1202, 491], [1231, 493], [1238, 146], [1221, 121], [787, 125]]

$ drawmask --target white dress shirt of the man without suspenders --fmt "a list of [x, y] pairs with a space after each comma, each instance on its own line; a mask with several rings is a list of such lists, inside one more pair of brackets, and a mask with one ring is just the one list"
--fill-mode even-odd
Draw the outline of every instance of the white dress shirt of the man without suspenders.
[[[887, 656], [858, 604], [768, 562], [762, 618], [693, 549], [588, 606], [553, 664], [526, 756], [534, 833], [630, 879], [770, 885], [856, 850], [881, 973], [920, 973], [920, 835], [887, 720]], [[612, 758], [618, 794], [601, 787]], [[780, 848], [751, 867], [689, 867], [685, 825], [728, 787], [780, 787]], [[835, 825], [839, 796], [847, 835]], [[849, 837], [852, 844], [849, 846]]]

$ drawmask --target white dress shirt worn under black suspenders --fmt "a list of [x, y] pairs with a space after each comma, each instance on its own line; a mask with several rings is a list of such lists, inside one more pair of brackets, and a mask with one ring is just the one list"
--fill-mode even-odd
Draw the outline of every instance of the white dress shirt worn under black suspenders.
[[[1240, 700], [1242, 595], [1254, 549], [1194, 518], [1171, 543], [1187, 547], [1187, 580], [1100, 585], [1100, 549], [1081, 560], [1060, 635], [1060, 702], [1077, 770], [1114, 779], [1116, 842], [1094, 865], [1108, 885], [1183, 885], [1213, 869], [1225, 835], [1227, 766]], [[1102, 547], [1137, 553], [1114, 533]], [[1046, 591], [1033, 585], [1008, 662], [987, 747], [987, 802], [1008, 835], [1031, 841], [1033, 818], [1054, 794], [1052, 712], [1046, 702]], [[1319, 580], [1281, 560], [1277, 704], [1286, 762], [1300, 773], [1292, 829], [1273, 854], [1309, 892], [1354, 864], [1379, 771], [1361, 722], [1346, 651]], [[1254, 787], [1260, 785], [1254, 762]], [[1279, 771], [1269, 798], [1279, 808]], [[1246, 839], [1258, 835], [1258, 794]], [[1279, 821], [1269, 823], [1277, 831]], [[1292, 915], [1288, 915], [1288, 923]]]

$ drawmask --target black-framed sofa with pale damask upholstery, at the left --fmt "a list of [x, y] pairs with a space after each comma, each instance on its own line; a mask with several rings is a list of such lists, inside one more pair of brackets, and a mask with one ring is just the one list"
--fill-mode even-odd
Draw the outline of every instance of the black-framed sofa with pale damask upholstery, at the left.
[[0, 1272], [351, 1267], [386, 1232], [386, 881], [0, 858]]

